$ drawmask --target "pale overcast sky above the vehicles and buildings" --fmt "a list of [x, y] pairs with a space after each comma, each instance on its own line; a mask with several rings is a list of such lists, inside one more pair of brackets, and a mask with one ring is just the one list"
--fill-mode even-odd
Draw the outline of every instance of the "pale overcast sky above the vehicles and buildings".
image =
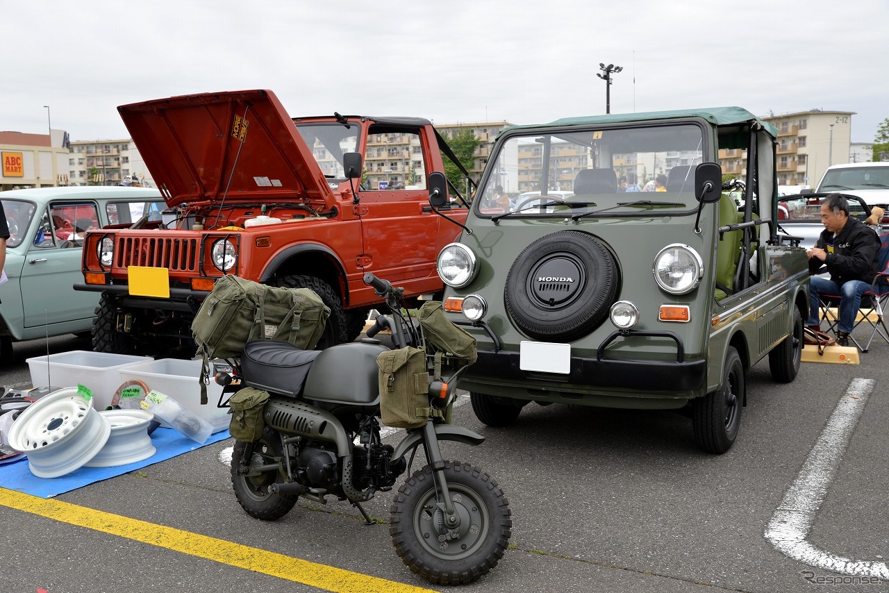
[[0, 0], [0, 130], [128, 138], [116, 106], [267, 88], [292, 116], [537, 124], [737, 105], [889, 117], [886, 0]]

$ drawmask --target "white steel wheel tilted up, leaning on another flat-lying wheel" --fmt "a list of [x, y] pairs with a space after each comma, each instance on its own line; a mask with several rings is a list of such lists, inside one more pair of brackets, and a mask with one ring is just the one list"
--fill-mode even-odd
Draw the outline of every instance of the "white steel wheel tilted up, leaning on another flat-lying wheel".
[[108, 418], [67, 387], [28, 406], [12, 423], [9, 445], [28, 455], [36, 477], [60, 477], [92, 460], [110, 435]]

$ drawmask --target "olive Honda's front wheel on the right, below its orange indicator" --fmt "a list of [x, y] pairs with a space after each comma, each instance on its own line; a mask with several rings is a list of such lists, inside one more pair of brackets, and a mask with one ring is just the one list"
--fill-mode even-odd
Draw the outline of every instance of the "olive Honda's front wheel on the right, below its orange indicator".
[[693, 401], [694, 440], [707, 453], [722, 454], [732, 448], [741, 427], [741, 410], [747, 393], [747, 378], [738, 351], [725, 353], [722, 385]]

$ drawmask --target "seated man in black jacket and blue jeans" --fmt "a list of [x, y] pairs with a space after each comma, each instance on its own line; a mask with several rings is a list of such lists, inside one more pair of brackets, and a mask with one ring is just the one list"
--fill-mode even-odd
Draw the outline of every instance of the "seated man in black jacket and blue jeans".
[[861, 294], [870, 288], [877, 274], [880, 240], [872, 228], [849, 216], [849, 204], [839, 194], [824, 198], [821, 224], [824, 230], [815, 246], [806, 252], [809, 273], [815, 273], [824, 264], [830, 278], [812, 276], [808, 325], [821, 329], [819, 301], [822, 294], [840, 295], [837, 345], [848, 346], [855, 314], [861, 306]]

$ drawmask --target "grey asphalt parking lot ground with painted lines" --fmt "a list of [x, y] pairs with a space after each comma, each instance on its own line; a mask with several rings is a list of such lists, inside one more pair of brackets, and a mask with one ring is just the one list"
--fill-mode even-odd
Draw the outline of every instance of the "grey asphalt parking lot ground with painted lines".
[[[28, 382], [24, 357], [45, 348], [16, 345], [0, 384]], [[455, 421], [486, 441], [445, 443], [445, 456], [498, 479], [513, 518], [500, 565], [461, 590], [886, 590], [887, 360], [877, 341], [861, 365], [804, 364], [789, 385], [757, 365], [741, 434], [721, 456], [696, 449], [679, 413], [529, 405], [515, 426], [491, 429], [461, 405]], [[61, 494], [49, 509], [0, 497], [0, 590], [436, 589], [396, 557], [392, 493], [365, 505], [377, 525], [337, 501], [300, 501], [262, 523], [232, 493], [231, 444]]]

